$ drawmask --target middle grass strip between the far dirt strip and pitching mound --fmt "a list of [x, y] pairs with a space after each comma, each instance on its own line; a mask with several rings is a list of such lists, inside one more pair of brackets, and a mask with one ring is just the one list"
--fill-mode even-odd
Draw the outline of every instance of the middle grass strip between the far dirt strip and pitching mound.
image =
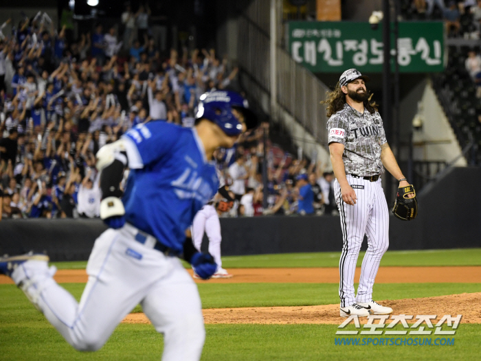
[[[77, 300], [83, 283], [63, 283], [62, 286]], [[203, 308], [268, 307], [296, 305], [329, 305], [339, 302], [337, 283], [200, 283]], [[481, 292], [481, 283], [379, 283], [374, 285], [374, 298], [412, 299]], [[12, 302], [10, 301], [12, 300]], [[0, 323], [5, 320], [4, 307], [13, 303], [23, 310], [30, 307], [23, 292], [14, 285], [0, 285]], [[33, 308], [33, 307], [32, 307]], [[140, 312], [139, 306], [135, 312]]]

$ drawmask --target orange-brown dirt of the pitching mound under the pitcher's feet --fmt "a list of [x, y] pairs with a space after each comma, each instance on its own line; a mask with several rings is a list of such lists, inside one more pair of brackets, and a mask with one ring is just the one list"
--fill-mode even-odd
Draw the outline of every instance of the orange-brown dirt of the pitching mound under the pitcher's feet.
[[[451, 294], [422, 299], [385, 300], [379, 303], [390, 306], [393, 314], [435, 314], [438, 320], [445, 314], [462, 314], [461, 323], [481, 323], [481, 292]], [[203, 310], [205, 323], [257, 323], [262, 325], [292, 323], [323, 323], [340, 325], [339, 305], [296, 307], [245, 307], [214, 308]], [[360, 318], [366, 323], [367, 318]], [[142, 313], [129, 314], [124, 323], [150, 323]], [[415, 322], [415, 321], [414, 321]], [[434, 321], [433, 321], [434, 323]]]

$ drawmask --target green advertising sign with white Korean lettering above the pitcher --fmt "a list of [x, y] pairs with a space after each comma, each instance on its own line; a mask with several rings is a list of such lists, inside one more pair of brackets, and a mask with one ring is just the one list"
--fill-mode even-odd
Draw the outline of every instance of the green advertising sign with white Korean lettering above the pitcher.
[[[391, 28], [394, 29], [393, 24]], [[382, 71], [382, 23], [372, 30], [369, 23], [291, 21], [288, 34], [291, 56], [313, 73], [342, 73], [350, 68], [370, 73]], [[391, 36], [394, 55], [393, 32]], [[443, 71], [444, 37], [443, 22], [400, 22], [399, 71]]]

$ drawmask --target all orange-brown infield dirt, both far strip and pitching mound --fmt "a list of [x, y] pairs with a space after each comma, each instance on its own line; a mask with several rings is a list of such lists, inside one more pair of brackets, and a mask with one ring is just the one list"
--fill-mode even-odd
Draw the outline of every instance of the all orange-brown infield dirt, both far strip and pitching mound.
[[[188, 270], [192, 274], [192, 270]], [[231, 268], [231, 279], [196, 280], [196, 283], [337, 283], [337, 268]], [[355, 279], [359, 279], [360, 268]], [[58, 270], [58, 283], [86, 283], [85, 270]], [[481, 267], [381, 267], [376, 283], [481, 283]], [[1, 283], [13, 283], [0, 275]], [[481, 292], [451, 294], [421, 299], [398, 299], [379, 301], [394, 309], [394, 314], [462, 314], [462, 323], [481, 323]], [[295, 307], [242, 307], [203, 310], [205, 323], [342, 323], [339, 304]], [[366, 323], [367, 319], [360, 319]], [[149, 323], [142, 313], [129, 314], [124, 323]], [[435, 323], [435, 321], [433, 321]]]

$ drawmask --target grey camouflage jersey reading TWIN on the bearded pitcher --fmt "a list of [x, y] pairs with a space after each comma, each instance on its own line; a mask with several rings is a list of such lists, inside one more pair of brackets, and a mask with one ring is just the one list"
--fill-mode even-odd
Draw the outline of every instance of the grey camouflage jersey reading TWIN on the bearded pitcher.
[[381, 144], [387, 142], [378, 112], [361, 114], [348, 104], [327, 121], [328, 143], [344, 144], [346, 174], [375, 176], [384, 172]]

